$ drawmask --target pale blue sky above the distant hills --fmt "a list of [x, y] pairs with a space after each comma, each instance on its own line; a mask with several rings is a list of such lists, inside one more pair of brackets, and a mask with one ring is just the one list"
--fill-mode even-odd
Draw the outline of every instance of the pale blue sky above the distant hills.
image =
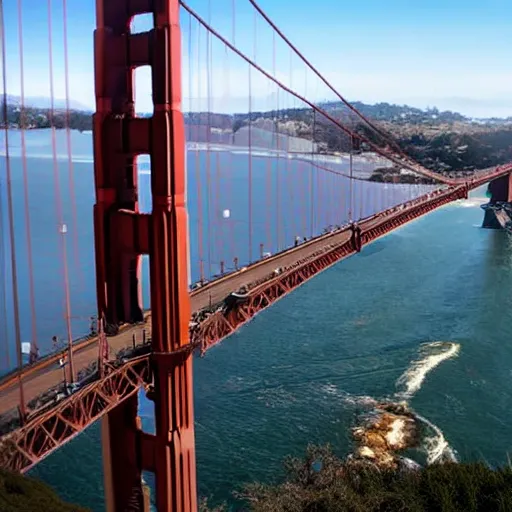
[[[26, 96], [50, 95], [48, 3], [22, 3]], [[63, 0], [51, 0], [54, 90], [65, 97]], [[255, 16], [248, 0], [189, 0], [248, 57], [310, 101], [333, 94]], [[18, 0], [4, 0], [7, 92], [19, 95]], [[234, 9], [233, 9], [234, 5]], [[260, 0], [260, 6], [348, 100], [437, 106], [475, 117], [512, 116], [510, 0]], [[93, 109], [94, 0], [67, 0], [71, 98]], [[234, 15], [233, 15], [234, 13]], [[133, 31], [150, 28], [139, 17]], [[184, 110], [301, 106], [182, 10]], [[275, 41], [275, 42], [274, 42]], [[1, 86], [0, 86], [1, 87]], [[250, 89], [250, 95], [249, 95]], [[136, 71], [136, 108], [152, 110], [148, 68]]]

